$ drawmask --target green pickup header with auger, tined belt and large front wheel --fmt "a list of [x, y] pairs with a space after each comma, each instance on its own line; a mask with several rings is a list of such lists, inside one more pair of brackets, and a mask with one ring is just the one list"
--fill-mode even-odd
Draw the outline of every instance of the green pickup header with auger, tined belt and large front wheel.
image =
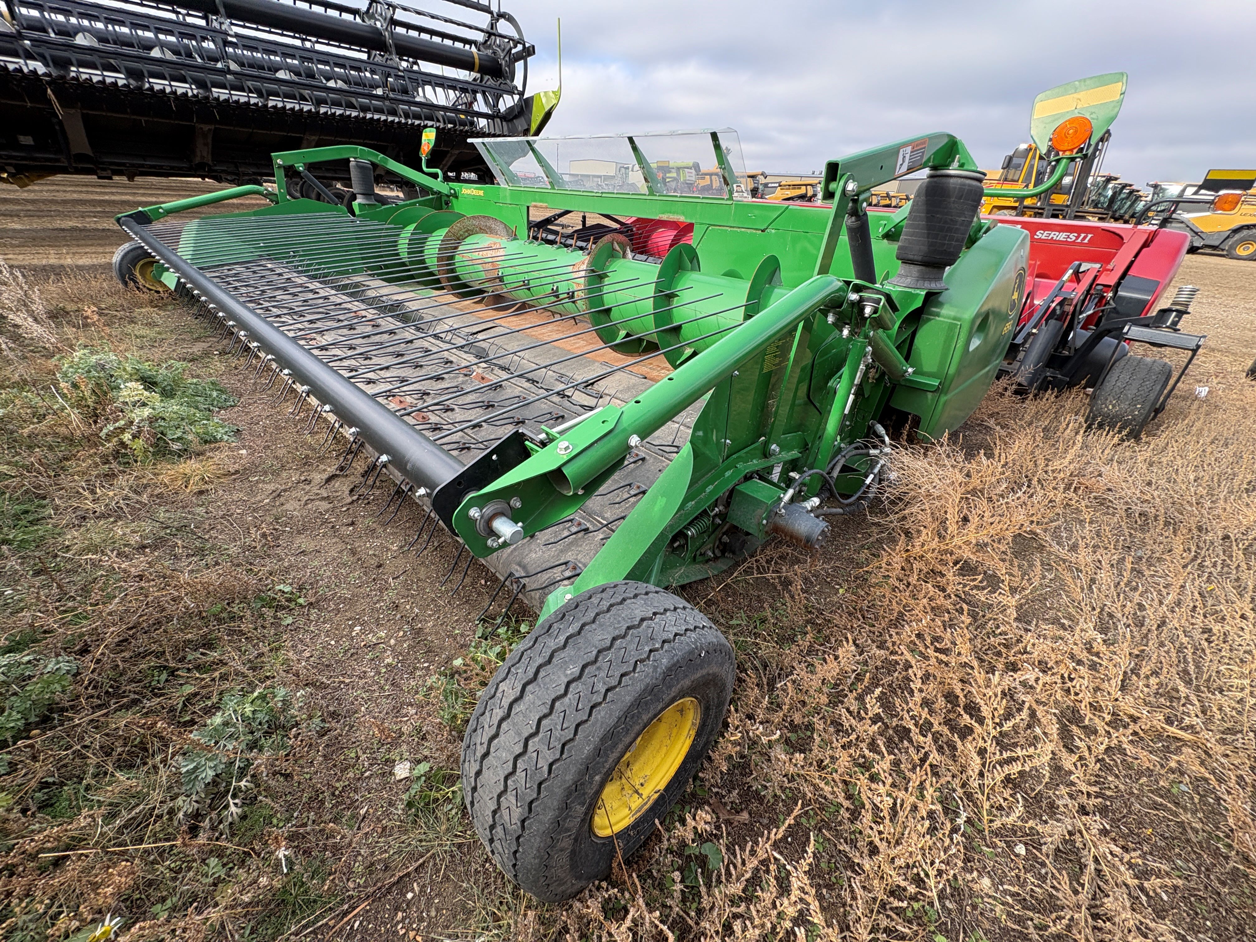
[[[1029, 235], [977, 216], [982, 175], [945, 133], [830, 161], [825, 208], [744, 198], [728, 131], [476, 144], [496, 183], [276, 153], [278, 193], [119, 216], [119, 265], [202, 301], [359, 492], [387, 482], [381, 512], [418, 501], [411, 545], [456, 540], [451, 584], [480, 558], [490, 609], [541, 614], [462, 774], [502, 869], [560, 899], [646, 839], [727, 706], [731, 648], [656, 587], [772, 535], [815, 545], [875, 486], [887, 427], [960, 425], [1002, 363]], [[345, 158], [352, 207], [289, 196]], [[422, 196], [381, 203], [379, 171]], [[865, 212], [914, 171], [909, 207]], [[177, 215], [257, 192], [274, 205]]]

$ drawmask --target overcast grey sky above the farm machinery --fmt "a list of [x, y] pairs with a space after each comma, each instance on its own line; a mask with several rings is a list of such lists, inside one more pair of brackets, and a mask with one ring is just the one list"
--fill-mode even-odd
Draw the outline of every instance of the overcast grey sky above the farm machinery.
[[558, 84], [546, 134], [732, 127], [750, 170], [927, 131], [982, 167], [1029, 139], [1034, 95], [1128, 72], [1105, 170], [1139, 186], [1256, 167], [1253, 0], [505, 0]]

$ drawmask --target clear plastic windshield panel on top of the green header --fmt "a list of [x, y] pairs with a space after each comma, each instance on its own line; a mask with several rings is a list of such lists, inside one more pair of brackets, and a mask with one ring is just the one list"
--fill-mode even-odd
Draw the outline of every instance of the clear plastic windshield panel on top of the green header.
[[472, 143], [501, 186], [749, 198], [741, 141], [732, 128]]

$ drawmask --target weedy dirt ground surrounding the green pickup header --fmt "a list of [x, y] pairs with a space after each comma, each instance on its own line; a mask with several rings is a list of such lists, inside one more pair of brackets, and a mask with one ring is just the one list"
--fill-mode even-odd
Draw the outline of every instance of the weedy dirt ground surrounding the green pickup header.
[[[725, 735], [625, 869], [539, 906], [456, 776], [530, 615], [477, 629], [486, 570], [450, 595], [414, 509], [113, 283], [109, 216], [205, 185], [148, 186], [0, 192], [3, 663], [65, 678], [9, 703], [8, 938], [1250, 937], [1256, 265], [1186, 260], [1208, 342], [1142, 441], [997, 391], [823, 551], [686, 587], [737, 649]], [[84, 345], [219, 379], [237, 440], [136, 460], [58, 379]]]

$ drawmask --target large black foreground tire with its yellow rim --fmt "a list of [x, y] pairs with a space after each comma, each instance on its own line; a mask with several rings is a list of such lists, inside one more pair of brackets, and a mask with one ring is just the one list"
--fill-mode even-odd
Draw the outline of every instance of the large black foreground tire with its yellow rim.
[[462, 742], [462, 789], [497, 865], [545, 902], [603, 879], [656, 830], [711, 749], [732, 648], [685, 600], [618, 582], [511, 652]]

